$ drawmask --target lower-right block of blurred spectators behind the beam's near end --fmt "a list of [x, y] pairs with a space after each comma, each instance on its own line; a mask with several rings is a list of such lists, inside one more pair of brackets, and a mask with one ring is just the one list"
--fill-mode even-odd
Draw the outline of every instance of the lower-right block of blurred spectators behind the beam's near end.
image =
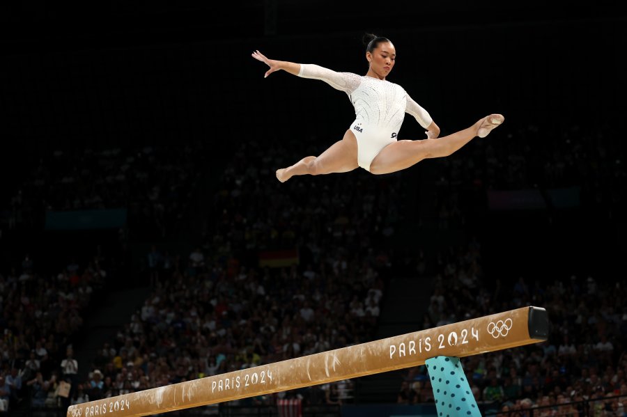
[[[477, 402], [511, 416], [529, 416], [529, 408], [538, 407], [534, 414], [538, 416], [623, 416], [627, 401], [624, 283], [597, 282], [592, 276], [548, 282], [521, 276], [513, 285], [499, 281], [491, 285], [474, 272], [481, 264], [477, 249], [475, 244], [465, 253], [451, 254], [438, 276], [424, 327], [522, 306], [547, 306], [551, 324], [545, 343], [462, 359]], [[591, 400], [591, 409], [583, 408], [585, 400]], [[424, 366], [406, 372], [398, 402], [433, 402]], [[576, 405], [567, 405], [571, 402]]]

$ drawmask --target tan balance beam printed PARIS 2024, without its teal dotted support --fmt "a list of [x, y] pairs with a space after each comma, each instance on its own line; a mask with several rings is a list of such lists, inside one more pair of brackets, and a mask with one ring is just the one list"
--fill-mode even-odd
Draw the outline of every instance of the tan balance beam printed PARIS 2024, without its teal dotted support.
[[68, 417], [135, 417], [201, 407], [543, 342], [544, 308], [523, 307], [454, 324], [68, 407]]

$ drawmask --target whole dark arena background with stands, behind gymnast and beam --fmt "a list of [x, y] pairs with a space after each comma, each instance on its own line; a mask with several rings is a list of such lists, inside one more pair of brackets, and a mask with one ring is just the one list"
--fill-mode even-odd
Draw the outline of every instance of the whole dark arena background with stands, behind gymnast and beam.
[[[0, 24], [0, 415], [113, 416], [528, 306], [545, 340], [446, 353], [477, 413], [627, 415], [624, 3], [29, 0]], [[251, 53], [364, 75], [367, 32], [440, 136], [504, 124], [397, 173], [279, 182], [355, 113]], [[426, 138], [409, 115], [398, 137]], [[164, 415], [441, 415], [423, 363]]]

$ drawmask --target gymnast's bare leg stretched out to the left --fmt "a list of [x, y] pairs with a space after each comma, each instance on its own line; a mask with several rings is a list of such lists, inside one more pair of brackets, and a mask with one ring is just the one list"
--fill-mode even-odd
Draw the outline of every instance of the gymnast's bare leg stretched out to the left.
[[357, 164], [357, 139], [350, 130], [319, 157], [304, 157], [287, 168], [277, 169], [277, 178], [286, 182], [294, 175], [322, 175], [353, 171]]

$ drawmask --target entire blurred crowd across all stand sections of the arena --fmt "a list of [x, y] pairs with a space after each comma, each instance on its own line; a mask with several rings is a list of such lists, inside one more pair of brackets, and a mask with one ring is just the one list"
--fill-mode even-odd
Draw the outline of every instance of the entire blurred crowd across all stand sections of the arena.
[[[551, 134], [530, 125], [442, 159], [433, 184], [438, 228], [464, 228], [469, 207], [488, 189], [575, 185], [582, 205], [608, 218], [624, 208], [624, 145], [603, 140], [612, 132], [573, 127], [557, 139]], [[373, 340], [395, 262], [389, 243], [407, 221], [399, 198], [403, 173], [359, 170], [277, 182], [277, 167], [322, 148], [315, 138], [243, 142], [198, 219], [199, 242], [190, 242], [188, 252], [155, 243], [144, 254], [150, 295], [93, 363], [77, 363], [72, 337], [107, 277], [100, 255], [71, 260], [52, 274], [26, 256], [3, 271], [1, 409], [24, 401], [78, 404]], [[3, 218], [10, 228], [33, 228], [45, 210], [127, 207], [132, 233], [150, 242], [168, 236], [191, 204], [203, 152], [191, 146], [56, 152], [33, 165]], [[423, 262], [437, 274], [424, 328], [550, 306], [548, 342], [463, 359], [478, 402], [506, 413], [534, 407], [550, 412], [539, 415], [583, 416], [587, 410], [567, 403], [603, 399], [594, 407], [623, 415], [622, 400], [610, 396], [627, 395], [624, 285], [595, 276], [516, 282], [486, 276], [480, 239], [472, 236], [430, 260], [419, 258], [418, 248], [413, 253], [412, 262], [422, 265], [418, 274]], [[79, 366], [88, 368], [86, 377]], [[235, 403], [342, 404], [353, 399], [353, 388], [353, 381], [339, 381]], [[398, 402], [431, 401], [426, 369], [408, 370]]]

